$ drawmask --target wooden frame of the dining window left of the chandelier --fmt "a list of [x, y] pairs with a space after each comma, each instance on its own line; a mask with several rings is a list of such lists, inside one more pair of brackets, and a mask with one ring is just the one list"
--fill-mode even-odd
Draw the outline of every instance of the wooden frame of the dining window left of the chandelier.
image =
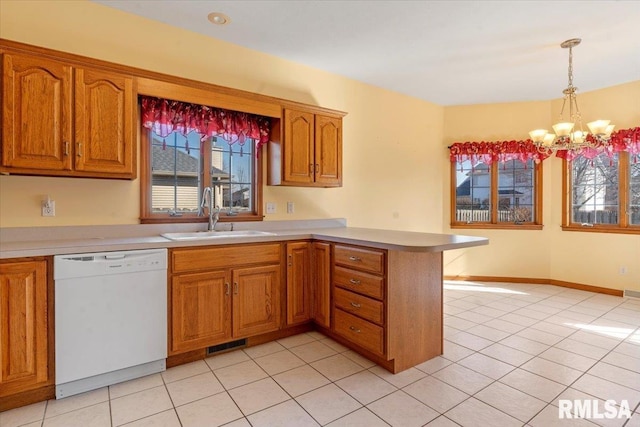
[[450, 162], [451, 163], [451, 175], [450, 175], [450, 221], [449, 225], [451, 228], [467, 228], [467, 229], [496, 229], [496, 230], [542, 230], [542, 162], [535, 163], [534, 166], [534, 218], [532, 222], [517, 224], [506, 223], [506, 222], [498, 222], [498, 202], [499, 202], [499, 192], [498, 192], [498, 175], [499, 175], [499, 162], [493, 162], [489, 165], [489, 171], [491, 175], [491, 221], [490, 222], [472, 222], [466, 223], [462, 221], [456, 221], [456, 184], [457, 184], [457, 174], [456, 169], [458, 162]]

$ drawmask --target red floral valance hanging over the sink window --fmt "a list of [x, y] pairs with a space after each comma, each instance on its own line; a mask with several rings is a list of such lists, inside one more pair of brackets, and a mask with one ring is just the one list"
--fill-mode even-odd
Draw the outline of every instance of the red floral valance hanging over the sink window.
[[243, 145], [252, 140], [256, 143], [256, 152], [269, 141], [271, 120], [268, 117], [150, 96], [141, 96], [140, 101], [142, 126], [162, 138], [172, 132], [183, 135], [197, 132], [202, 139], [216, 136], [229, 144]]

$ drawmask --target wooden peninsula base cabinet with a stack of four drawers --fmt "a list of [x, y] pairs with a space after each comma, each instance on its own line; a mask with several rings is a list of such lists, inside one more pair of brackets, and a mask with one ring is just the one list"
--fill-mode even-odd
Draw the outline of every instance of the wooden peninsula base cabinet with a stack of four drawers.
[[331, 281], [346, 344], [393, 373], [442, 354], [442, 252], [334, 244]]

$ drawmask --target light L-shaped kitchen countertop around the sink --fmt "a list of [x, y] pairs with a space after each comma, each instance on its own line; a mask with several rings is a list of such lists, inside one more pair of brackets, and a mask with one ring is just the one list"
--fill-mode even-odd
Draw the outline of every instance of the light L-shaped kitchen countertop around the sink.
[[[201, 224], [196, 226], [202, 228]], [[224, 227], [224, 224], [220, 223], [220, 226]], [[263, 230], [274, 234], [173, 241], [161, 237], [160, 234], [169, 231], [198, 230], [194, 230], [192, 224], [182, 226], [126, 225], [1, 229], [0, 259], [134, 249], [282, 242], [301, 239], [316, 239], [409, 252], [441, 252], [489, 243], [489, 240], [484, 237], [347, 227], [346, 221], [342, 219], [265, 221], [260, 224], [238, 223], [237, 226], [245, 230]]]

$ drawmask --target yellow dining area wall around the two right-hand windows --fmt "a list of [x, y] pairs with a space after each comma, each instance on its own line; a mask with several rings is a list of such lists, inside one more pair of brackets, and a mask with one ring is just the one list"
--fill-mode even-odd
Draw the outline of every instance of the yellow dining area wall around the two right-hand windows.
[[[640, 81], [588, 93], [578, 101], [585, 121], [608, 118], [618, 129], [640, 124]], [[526, 138], [531, 129], [557, 120], [562, 100], [445, 108], [444, 142]], [[446, 167], [450, 167], [448, 160]], [[443, 183], [449, 206], [450, 178]], [[562, 161], [543, 163], [543, 230], [451, 230], [489, 237], [488, 247], [445, 253], [445, 274], [556, 279], [614, 289], [640, 290], [640, 238], [637, 235], [562, 231]], [[627, 274], [619, 275], [621, 266]]]

